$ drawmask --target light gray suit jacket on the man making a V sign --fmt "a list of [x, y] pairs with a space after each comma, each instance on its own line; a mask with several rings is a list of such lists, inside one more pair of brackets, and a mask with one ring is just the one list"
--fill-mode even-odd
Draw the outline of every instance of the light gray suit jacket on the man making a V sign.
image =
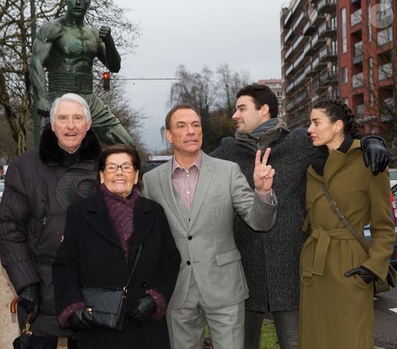
[[181, 253], [170, 309], [179, 309], [185, 302], [192, 271], [209, 307], [227, 307], [248, 298], [233, 219], [238, 214], [253, 229], [268, 231], [276, 218], [274, 193], [276, 205], [263, 203], [251, 190], [238, 164], [202, 155], [190, 219], [181, 213], [172, 190], [172, 159], [143, 177], [142, 196], [162, 205]]

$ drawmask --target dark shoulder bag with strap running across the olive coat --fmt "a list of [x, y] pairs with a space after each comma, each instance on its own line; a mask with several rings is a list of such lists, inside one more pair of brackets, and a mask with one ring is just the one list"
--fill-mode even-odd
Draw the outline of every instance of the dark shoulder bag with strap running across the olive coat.
[[[370, 250], [369, 250], [368, 246], [366, 245], [365, 242], [363, 242], [360, 235], [357, 233], [357, 231], [355, 231], [352, 224], [350, 224], [350, 222], [346, 219], [344, 214], [342, 214], [342, 211], [340, 210], [339, 207], [337, 207], [335, 201], [332, 200], [331, 195], [329, 194], [329, 191], [326, 189], [326, 186], [324, 185], [324, 183], [322, 183], [322, 191], [325, 194], [326, 200], [328, 200], [328, 202], [329, 202], [329, 207], [331, 207], [331, 209], [335, 212], [335, 214], [338, 216], [338, 218], [345, 225], [345, 227], [348, 230], [350, 230], [350, 232], [354, 235], [354, 237], [360, 243], [362, 248], [369, 255]], [[379, 282], [379, 281], [374, 282], [374, 294], [379, 294], [381, 292], [389, 291], [390, 287], [396, 287], [396, 270], [394, 270], [393, 266], [390, 263], [389, 263], [389, 269], [387, 270], [386, 281], [387, 282]]]

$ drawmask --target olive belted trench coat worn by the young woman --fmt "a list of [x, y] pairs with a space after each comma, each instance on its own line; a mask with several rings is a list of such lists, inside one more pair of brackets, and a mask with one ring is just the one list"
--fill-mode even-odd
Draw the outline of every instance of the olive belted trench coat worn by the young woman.
[[[369, 255], [329, 207], [322, 183], [363, 240], [370, 223]], [[311, 235], [300, 255], [299, 348], [373, 349], [374, 287], [344, 273], [365, 266], [387, 276], [395, 239], [388, 170], [372, 175], [354, 140], [346, 154], [331, 151], [323, 176], [308, 168], [306, 201]]]

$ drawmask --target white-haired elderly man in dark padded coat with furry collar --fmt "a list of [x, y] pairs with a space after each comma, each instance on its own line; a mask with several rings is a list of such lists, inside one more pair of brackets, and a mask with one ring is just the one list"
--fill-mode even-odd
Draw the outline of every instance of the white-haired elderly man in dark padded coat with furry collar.
[[[101, 144], [90, 129], [90, 109], [77, 94], [64, 94], [51, 107], [38, 148], [8, 167], [0, 203], [0, 257], [18, 294], [22, 327], [31, 313], [29, 348], [52, 349], [70, 337], [55, 315], [51, 264], [62, 240], [68, 205], [95, 191]], [[72, 340], [68, 347], [73, 348]]]

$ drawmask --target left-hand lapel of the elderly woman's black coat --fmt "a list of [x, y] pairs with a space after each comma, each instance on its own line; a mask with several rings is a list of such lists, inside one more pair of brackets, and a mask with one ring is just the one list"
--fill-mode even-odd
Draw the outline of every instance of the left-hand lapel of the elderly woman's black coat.
[[88, 211], [92, 212], [87, 216], [88, 224], [102, 235], [107, 241], [121, 247], [120, 238], [114, 230], [114, 225], [107, 212], [106, 204], [103, 201], [102, 193], [98, 191], [96, 194], [88, 198]]

